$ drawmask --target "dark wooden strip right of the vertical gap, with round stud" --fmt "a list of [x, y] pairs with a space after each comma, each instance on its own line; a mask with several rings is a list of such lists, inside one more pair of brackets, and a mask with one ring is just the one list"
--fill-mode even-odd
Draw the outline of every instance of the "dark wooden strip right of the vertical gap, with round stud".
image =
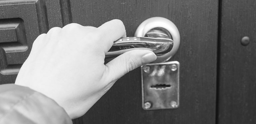
[[[218, 123], [256, 123], [256, 1], [222, 0]], [[247, 46], [241, 39], [250, 38]]]

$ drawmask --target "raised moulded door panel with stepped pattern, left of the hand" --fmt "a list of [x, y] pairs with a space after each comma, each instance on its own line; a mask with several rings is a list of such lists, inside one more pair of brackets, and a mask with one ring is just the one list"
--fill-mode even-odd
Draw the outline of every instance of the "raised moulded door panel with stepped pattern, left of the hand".
[[14, 83], [34, 40], [48, 31], [44, 1], [0, 2], [0, 84]]

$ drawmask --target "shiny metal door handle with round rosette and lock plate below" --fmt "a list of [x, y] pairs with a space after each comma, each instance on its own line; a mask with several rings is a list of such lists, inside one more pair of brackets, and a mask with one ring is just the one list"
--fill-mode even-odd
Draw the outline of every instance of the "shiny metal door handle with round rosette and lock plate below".
[[114, 42], [106, 58], [134, 49], [150, 49], [156, 61], [141, 66], [142, 108], [144, 110], [179, 107], [179, 68], [172, 58], [180, 46], [180, 34], [173, 22], [163, 17], [152, 17], [142, 22], [134, 37]]

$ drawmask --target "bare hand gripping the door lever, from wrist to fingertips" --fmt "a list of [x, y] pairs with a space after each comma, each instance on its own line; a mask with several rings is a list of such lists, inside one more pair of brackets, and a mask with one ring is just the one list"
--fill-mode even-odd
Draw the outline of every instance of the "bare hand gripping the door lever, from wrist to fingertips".
[[98, 28], [75, 23], [52, 28], [35, 40], [15, 84], [54, 99], [71, 119], [80, 117], [117, 79], [156, 59], [152, 51], [132, 50], [104, 65], [105, 53], [120, 37], [126, 37], [120, 20]]

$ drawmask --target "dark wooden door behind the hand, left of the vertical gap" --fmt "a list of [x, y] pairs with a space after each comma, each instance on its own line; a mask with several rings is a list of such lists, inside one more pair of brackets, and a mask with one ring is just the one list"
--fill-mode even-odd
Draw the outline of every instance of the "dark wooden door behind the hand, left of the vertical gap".
[[[71, 22], [98, 27], [106, 21], [120, 19], [125, 24], [127, 36], [133, 36], [141, 22], [155, 16], [171, 20], [180, 31], [180, 48], [170, 60], [180, 62], [180, 107], [143, 110], [140, 68], [137, 68], [119, 79], [84, 116], [73, 122], [214, 124], [218, 29], [216, 0], [0, 1], [0, 83], [14, 83], [33, 41], [52, 27], [63, 27]], [[7, 30], [6, 27], [12, 23], [21, 25], [22, 29], [12, 27], [12, 31]], [[20, 35], [26, 40], [19, 40]], [[16, 51], [19, 48], [17, 45], [27, 46], [28, 49]], [[13, 47], [14, 52], [8, 53], [4, 47]]]

